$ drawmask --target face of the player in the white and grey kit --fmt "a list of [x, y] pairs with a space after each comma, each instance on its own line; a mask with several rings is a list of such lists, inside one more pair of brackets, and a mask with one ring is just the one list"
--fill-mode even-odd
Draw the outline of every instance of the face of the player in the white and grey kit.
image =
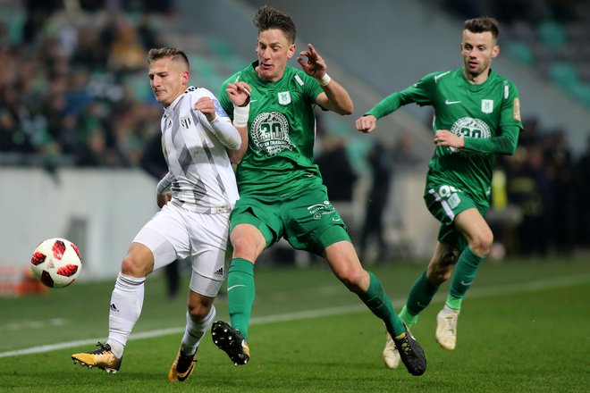
[[189, 71], [182, 62], [162, 58], [149, 65], [149, 84], [156, 101], [164, 106], [171, 105], [186, 90], [188, 82]]

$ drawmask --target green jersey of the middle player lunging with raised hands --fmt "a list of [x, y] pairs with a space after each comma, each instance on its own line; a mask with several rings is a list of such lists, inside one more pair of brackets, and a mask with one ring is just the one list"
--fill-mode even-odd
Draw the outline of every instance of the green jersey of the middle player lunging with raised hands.
[[324, 188], [313, 161], [314, 106], [324, 90], [316, 79], [291, 66], [275, 82], [258, 78], [256, 67], [257, 62], [232, 75], [219, 95], [223, 109], [232, 116], [227, 84], [240, 78], [252, 88], [249, 146], [236, 171], [240, 194], [285, 198], [309, 188]]

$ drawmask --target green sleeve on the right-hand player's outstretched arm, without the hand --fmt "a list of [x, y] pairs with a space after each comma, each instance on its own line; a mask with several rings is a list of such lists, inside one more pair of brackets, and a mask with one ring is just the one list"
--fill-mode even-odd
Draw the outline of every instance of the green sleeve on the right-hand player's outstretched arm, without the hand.
[[416, 103], [418, 105], [432, 105], [432, 96], [434, 88], [434, 73], [418, 80], [418, 82], [409, 88], [386, 96], [377, 105], [371, 108], [366, 114], [372, 114], [377, 119], [398, 110], [400, 106]]

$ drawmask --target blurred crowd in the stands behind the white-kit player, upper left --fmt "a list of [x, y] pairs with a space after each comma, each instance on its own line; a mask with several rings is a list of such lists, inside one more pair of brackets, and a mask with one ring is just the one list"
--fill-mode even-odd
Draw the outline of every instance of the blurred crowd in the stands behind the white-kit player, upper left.
[[150, 0], [3, 4], [0, 164], [137, 164], [162, 112], [147, 50], [172, 11]]

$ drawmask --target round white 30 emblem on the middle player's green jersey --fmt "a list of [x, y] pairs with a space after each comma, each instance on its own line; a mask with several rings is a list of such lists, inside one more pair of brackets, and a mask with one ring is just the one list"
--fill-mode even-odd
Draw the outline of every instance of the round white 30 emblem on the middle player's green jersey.
[[278, 112], [259, 113], [252, 121], [250, 137], [256, 150], [266, 155], [278, 155], [284, 149], [295, 147], [289, 140], [289, 121]]

